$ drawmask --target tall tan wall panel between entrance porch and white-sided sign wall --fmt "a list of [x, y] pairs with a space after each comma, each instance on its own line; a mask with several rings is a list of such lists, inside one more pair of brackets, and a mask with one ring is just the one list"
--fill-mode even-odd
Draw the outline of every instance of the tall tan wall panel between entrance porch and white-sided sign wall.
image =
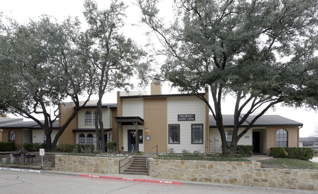
[[[159, 152], [167, 152], [167, 98], [145, 98], [144, 120], [144, 150], [158, 145]], [[146, 141], [146, 135], [150, 135], [150, 141]]]

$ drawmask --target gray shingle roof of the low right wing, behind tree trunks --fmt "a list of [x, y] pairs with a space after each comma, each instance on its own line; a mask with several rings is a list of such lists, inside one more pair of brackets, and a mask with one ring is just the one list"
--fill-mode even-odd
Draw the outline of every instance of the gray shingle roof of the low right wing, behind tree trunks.
[[[240, 116], [241, 118], [243, 115]], [[243, 123], [242, 127], [247, 127], [250, 122], [255, 118], [255, 115], [250, 115], [248, 119]], [[216, 121], [214, 120], [213, 115], [210, 115], [209, 118], [210, 128], [216, 128]], [[223, 124], [224, 127], [233, 127], [234, 126], [234, 115], [233, 114], [225, 114], [223, 115]], [[300, 127], [303, 126], [302, 123], [297, 121], [279, 116], [279, 115], [263, 115], [258, 118], [252, 127]]]

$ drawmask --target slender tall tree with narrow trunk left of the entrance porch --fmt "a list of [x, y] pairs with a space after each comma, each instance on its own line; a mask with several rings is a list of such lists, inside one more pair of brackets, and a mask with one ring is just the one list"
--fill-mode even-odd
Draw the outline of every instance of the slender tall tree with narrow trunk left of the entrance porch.
[[[98, 93], [95, 112], [95, 129], [97, 150], [105, 150], [104, 127], [102, 120], [102, 98], [114, 88], [133, 87], [130, 81], [134, 75], [143, 80], [148, 65], [141, 63], [145, 52], [138, 48], [130, 38], [125, 38], [120, 31], [124, 25], [126, 6], [122, 1], [112, 1], [108, 9], [98, 10], [92, 0], [84, 1], [84, 16], [89, 24], [86, 32], [89, 37], [89, 61], [95, 74], [93, 77]], [[99, 132], [100, 129], [100, 132]], [[101, 138], [99, 136], [101, 135]], [[100, 148], [100, 142], [102, 148]]]

